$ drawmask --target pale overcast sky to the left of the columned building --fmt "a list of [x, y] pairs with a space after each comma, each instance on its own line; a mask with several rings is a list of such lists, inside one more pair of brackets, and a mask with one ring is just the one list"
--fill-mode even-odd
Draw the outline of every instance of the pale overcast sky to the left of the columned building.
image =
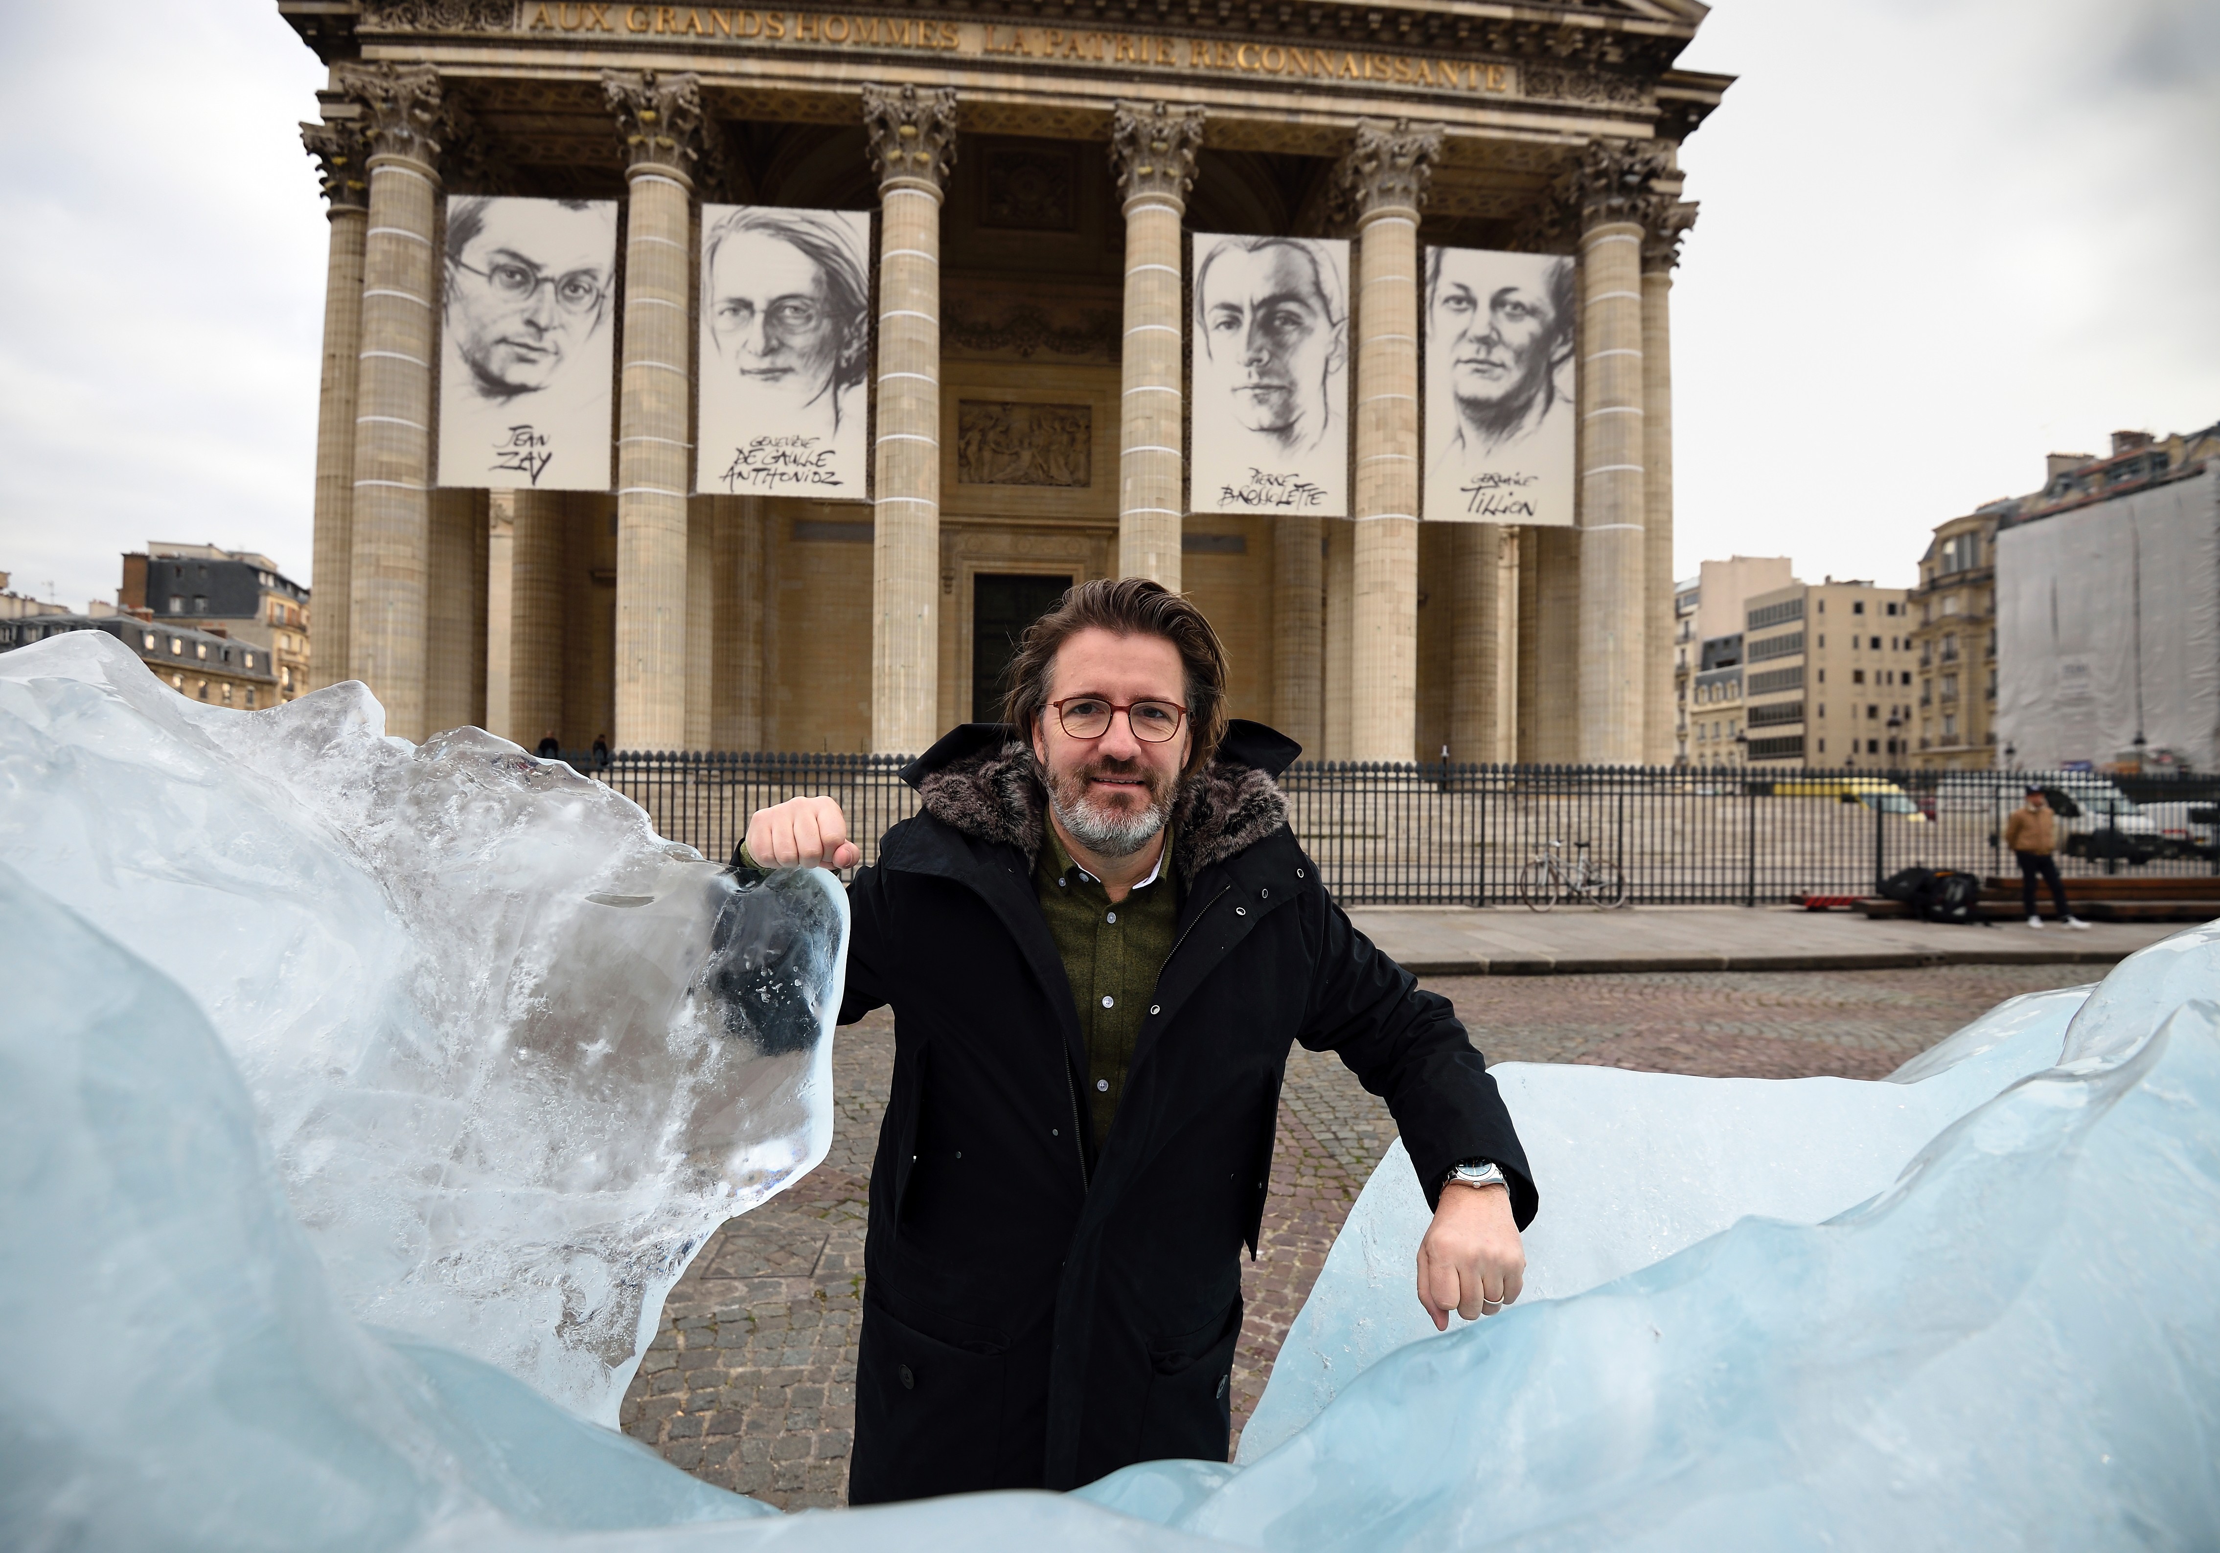
[[262, 4], [11, 18], [0, 55], [0, 570], [113, 599], [149, 539], [309, 577], [324, 69]]

